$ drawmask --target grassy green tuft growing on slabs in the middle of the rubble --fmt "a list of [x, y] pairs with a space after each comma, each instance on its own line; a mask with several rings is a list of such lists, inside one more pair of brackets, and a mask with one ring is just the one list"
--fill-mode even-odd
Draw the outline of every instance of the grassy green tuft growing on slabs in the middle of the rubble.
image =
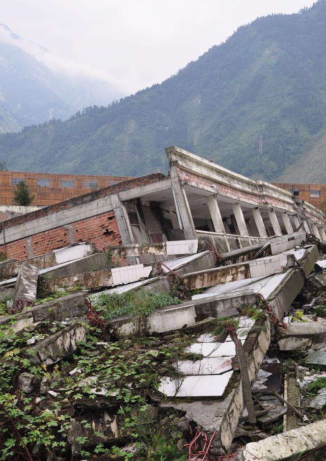
[[121, 315], [143, 318], [152, 314], [155, 309], [181, 302], [178, 297], [166, 292], [150, 293], [145, 290], [131, 290], [121, 294], [100, 294], [93, 305], [105, 320], [112, 320]]

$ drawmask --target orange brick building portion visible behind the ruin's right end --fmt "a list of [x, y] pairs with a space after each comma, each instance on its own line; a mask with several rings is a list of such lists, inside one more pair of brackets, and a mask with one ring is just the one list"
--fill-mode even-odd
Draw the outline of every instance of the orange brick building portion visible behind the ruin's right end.
[[274, 182], [278, 187], [291, 192], [294, 197], [311, 203], [326, 213], [326, 184], [301, 184]]

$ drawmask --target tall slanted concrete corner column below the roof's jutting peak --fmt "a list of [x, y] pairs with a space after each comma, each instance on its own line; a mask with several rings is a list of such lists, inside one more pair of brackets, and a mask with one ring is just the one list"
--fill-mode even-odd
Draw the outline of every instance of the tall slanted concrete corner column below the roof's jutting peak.
[[185, 191], [181, 185], [181, 181], [178, 175], [178, 169], [176, 165], [170, 168], [171, 184], [174, 190], [176, 202], [178, 204], [180, 218], [183, 225], [184, 236], [187, 240], [193, 240], [197, 238], [196, 229], [192, 213], [190, 211], [189, 203]]

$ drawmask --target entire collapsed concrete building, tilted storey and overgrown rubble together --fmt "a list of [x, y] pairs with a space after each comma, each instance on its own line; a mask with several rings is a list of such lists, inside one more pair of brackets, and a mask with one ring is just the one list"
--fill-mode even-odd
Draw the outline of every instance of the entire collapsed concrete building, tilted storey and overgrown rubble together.
[[[177, 147], [167, 155], [168, 176], [3, 223], [10, 459], [323, 459], [324, 387], [311, 402], [306, 392], [326, 364], [323, 213]], [[40, 415], [60, 449], [24, 429]]]

